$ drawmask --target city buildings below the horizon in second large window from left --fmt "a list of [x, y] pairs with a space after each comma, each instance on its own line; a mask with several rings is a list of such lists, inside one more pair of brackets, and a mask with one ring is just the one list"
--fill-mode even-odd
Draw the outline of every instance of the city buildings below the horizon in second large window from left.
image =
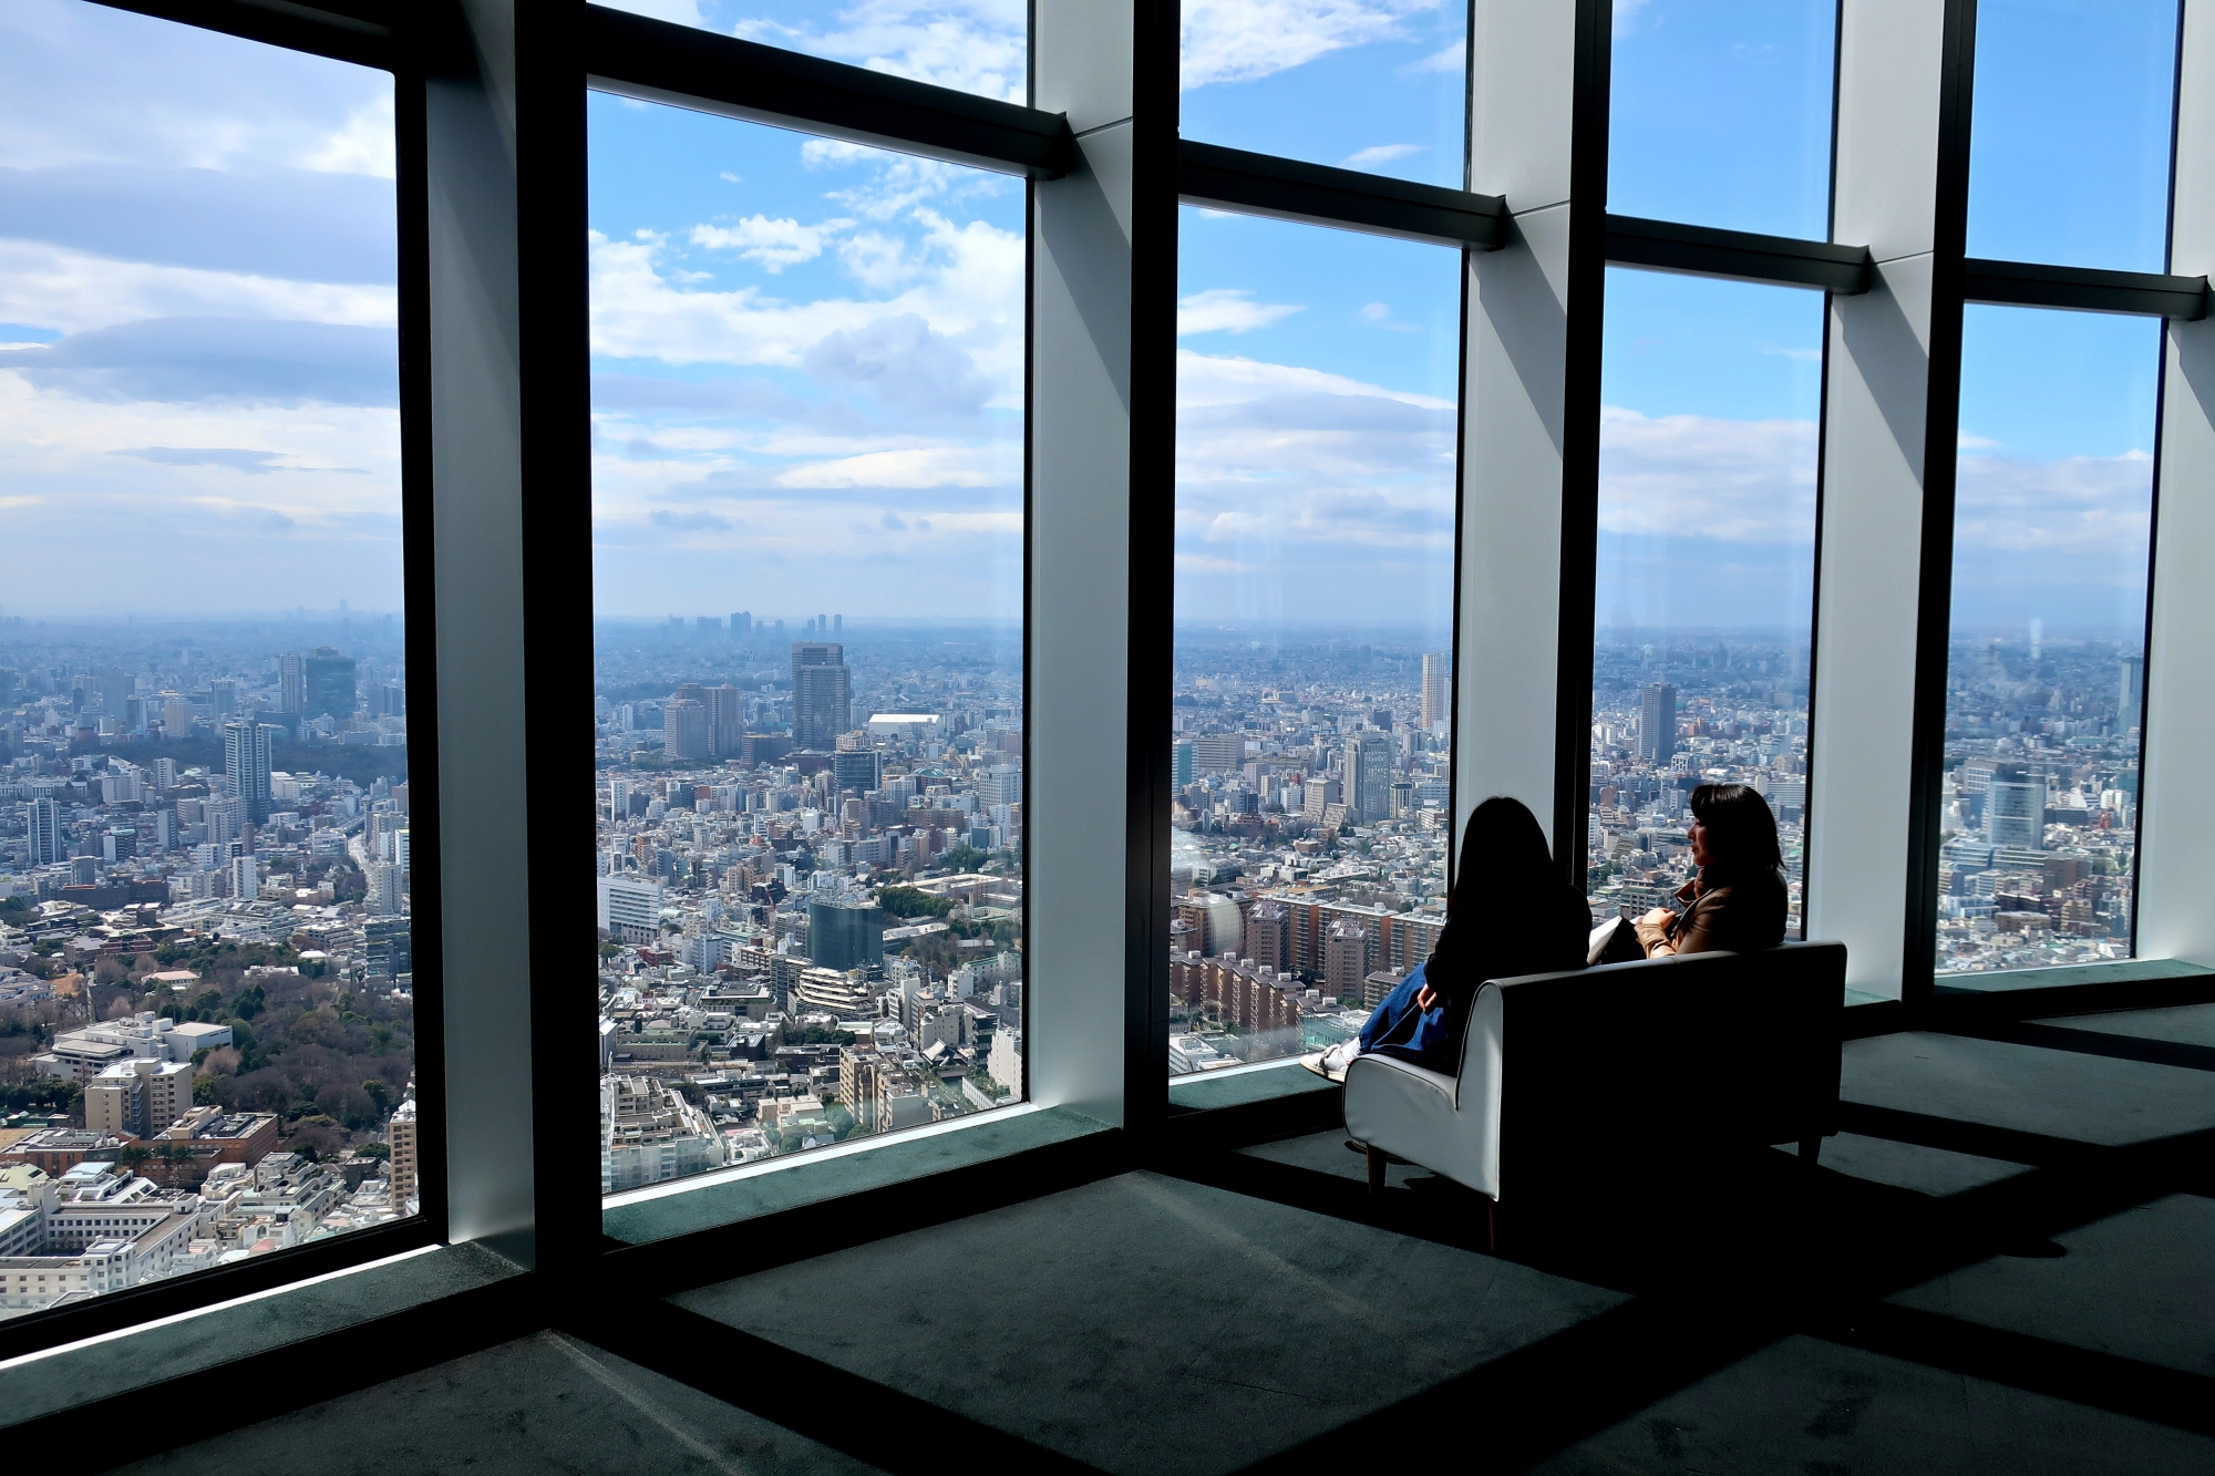
[[596, 629], [600, 1190], [1023, 1097], [1014, 623]]

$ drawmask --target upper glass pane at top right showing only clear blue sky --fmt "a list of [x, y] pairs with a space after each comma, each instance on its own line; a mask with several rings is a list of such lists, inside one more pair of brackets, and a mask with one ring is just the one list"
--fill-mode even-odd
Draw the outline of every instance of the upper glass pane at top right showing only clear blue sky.
[[1980, 0], [1969, 255], [2168, 259], [2177, 0]]

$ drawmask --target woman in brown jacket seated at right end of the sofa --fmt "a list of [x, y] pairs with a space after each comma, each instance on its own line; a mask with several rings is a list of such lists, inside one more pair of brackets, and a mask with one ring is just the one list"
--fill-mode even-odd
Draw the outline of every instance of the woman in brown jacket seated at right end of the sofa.
[[1756, 789], [1701, 785], [1692, 791], [1692, 864], [1677, 889], [1683, 913], [1657, 906], [1637, 920], [1646, 957], [1750, 953], [1785, 937], [1785, 858], [1776, 816]]

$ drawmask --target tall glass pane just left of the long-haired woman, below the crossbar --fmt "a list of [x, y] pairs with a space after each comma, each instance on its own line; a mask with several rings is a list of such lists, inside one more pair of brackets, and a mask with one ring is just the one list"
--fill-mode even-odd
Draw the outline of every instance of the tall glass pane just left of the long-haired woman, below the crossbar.
[[1353, 1035], [1444, 924], [1460, 253], [1185, 208], [1170, 1070]]

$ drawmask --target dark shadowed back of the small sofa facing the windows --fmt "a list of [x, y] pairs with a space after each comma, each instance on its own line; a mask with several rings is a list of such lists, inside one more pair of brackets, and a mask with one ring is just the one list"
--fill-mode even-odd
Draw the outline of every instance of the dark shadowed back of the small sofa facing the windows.
[[1502, 1179], [1628, 1139], [1788, 1144], [1838, 1128], [1845, 944], [1537, 973], [1502, 995]]

